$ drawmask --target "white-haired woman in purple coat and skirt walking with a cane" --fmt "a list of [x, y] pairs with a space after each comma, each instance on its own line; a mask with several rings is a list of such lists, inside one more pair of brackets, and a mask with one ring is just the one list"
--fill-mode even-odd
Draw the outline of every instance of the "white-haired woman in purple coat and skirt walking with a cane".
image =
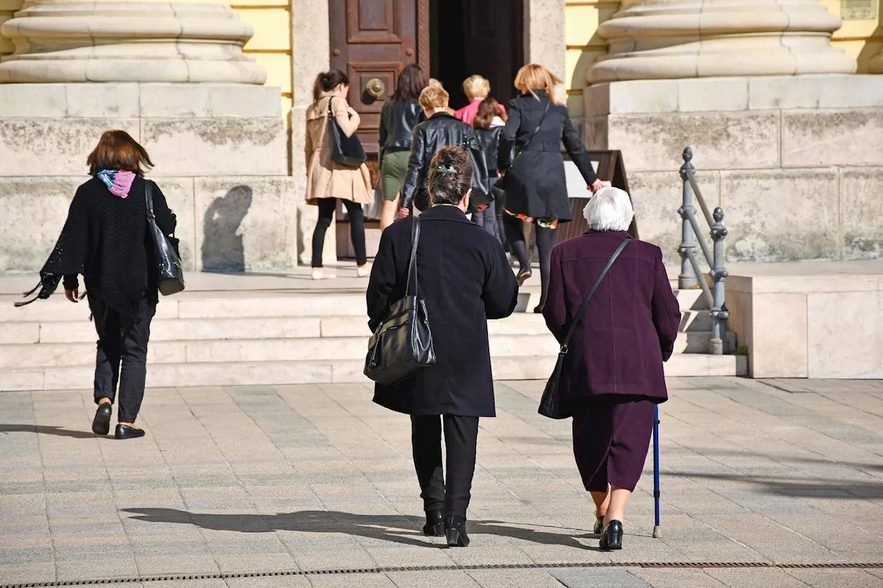
[[[552, 251], [543, 316], [562, 341], [601, 268], [628, 238], [629, 194], [602, 188], [583, 211], [589, 230]], [[560, 386], [573, 414], [573, 453], [595, 502], [600, 547], [623, 547], [625, 506], [644, 469], [655, 404], [668, 399], [662, 362], [681, 313], [656, 245], [634, 241], [600, 283], [570, 341]]]

